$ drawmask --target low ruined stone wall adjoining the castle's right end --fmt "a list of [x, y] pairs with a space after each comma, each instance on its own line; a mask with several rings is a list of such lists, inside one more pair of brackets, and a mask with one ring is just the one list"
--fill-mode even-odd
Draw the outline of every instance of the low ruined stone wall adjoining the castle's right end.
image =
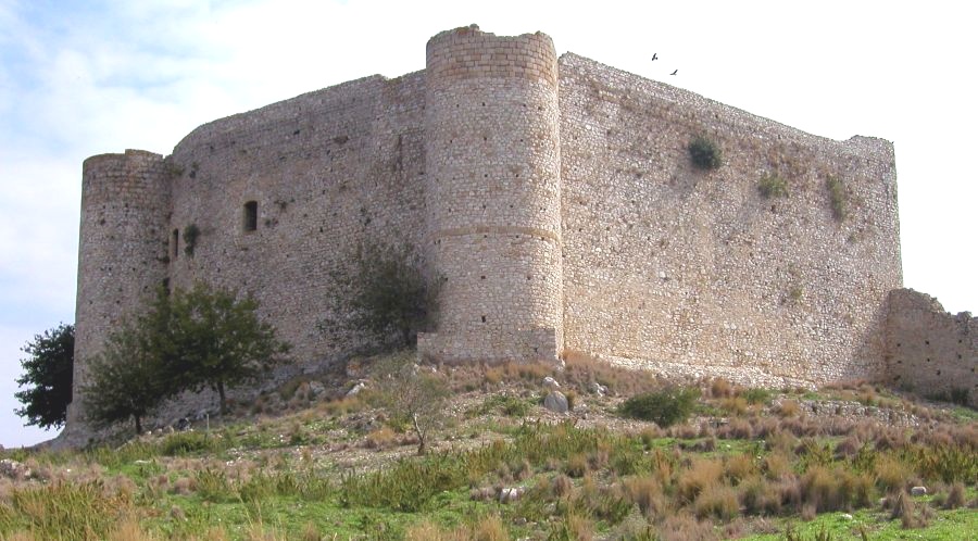
[[966, 392], [978, 405], [978, 318], [949, 314], [928, 294], [895, 289], [889, 295], [887, 345], [894, 387], [944, 400]]

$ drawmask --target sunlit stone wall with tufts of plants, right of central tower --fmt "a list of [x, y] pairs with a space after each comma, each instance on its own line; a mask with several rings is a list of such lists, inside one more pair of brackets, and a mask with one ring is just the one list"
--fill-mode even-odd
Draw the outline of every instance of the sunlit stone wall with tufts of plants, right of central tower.
[[[560, 74], [567, 354], [769, 385], [882, 376], [902, 280], [889, 142], [815, 137], [573, 54]], [[722, 147], [719, 169], [693, 167], [695, 135]], [[760, 193], [773, 174], [787, 197]]]

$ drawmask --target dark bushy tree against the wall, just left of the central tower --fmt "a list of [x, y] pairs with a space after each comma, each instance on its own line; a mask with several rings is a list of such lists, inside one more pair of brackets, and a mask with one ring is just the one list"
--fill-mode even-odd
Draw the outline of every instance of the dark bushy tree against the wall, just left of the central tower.
[[406, 244], [364, 242], [347, 261], [333, 273], [330, 306], [319, 329], [334, 339], [365, 332], [385, 341], [398, 335], [403, 347], [413, 345], [435, 312], [438, 280], [425, 278]]

